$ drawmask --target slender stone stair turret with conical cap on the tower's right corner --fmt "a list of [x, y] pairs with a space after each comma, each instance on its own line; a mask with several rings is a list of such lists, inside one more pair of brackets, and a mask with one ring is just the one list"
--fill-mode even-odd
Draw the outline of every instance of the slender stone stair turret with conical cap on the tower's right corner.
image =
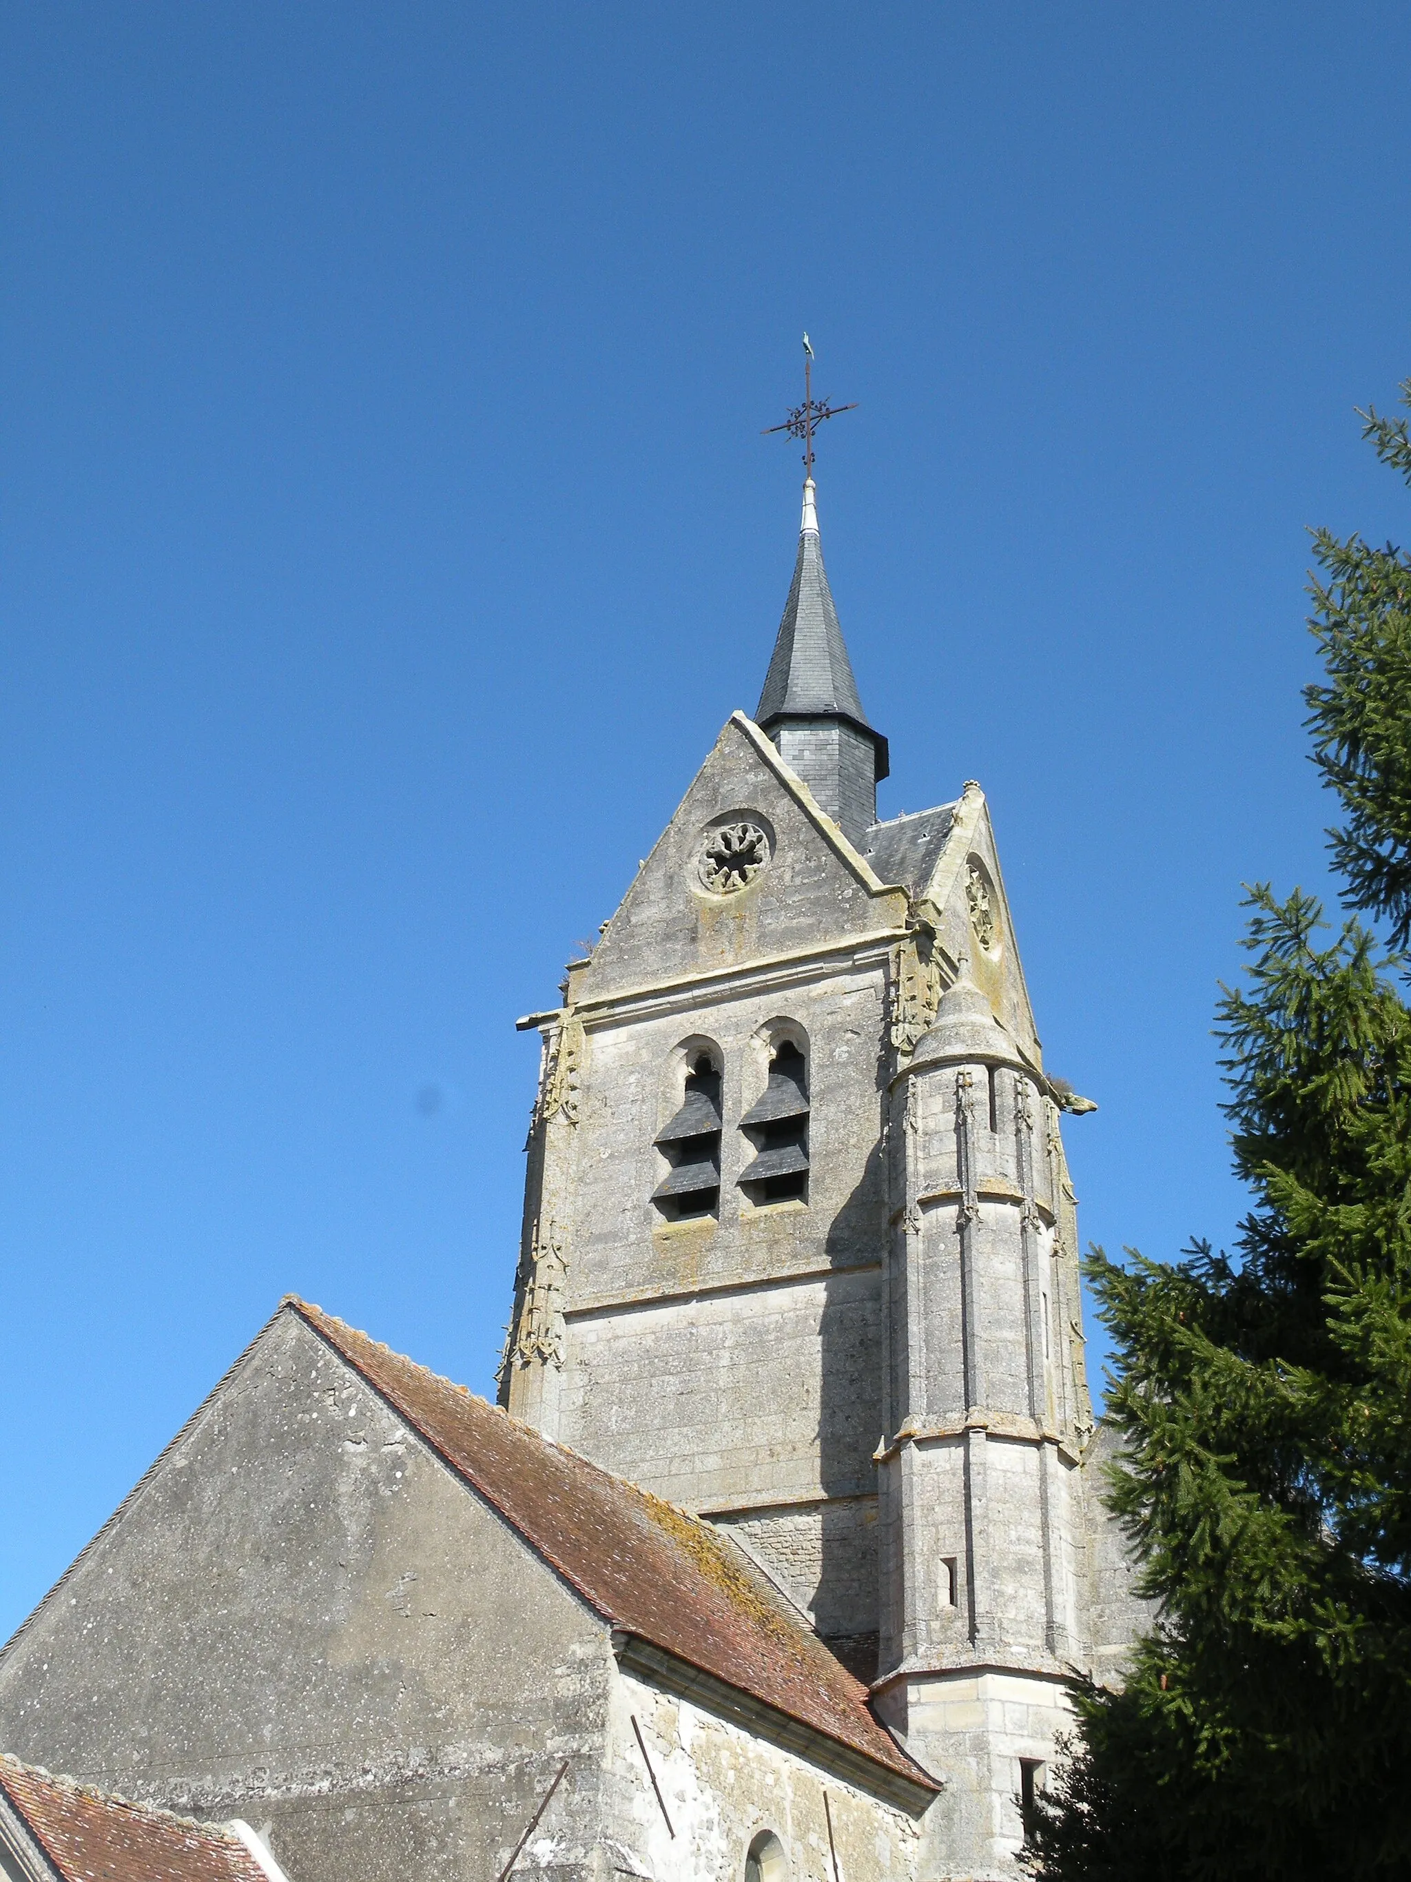
[[944, 1765], [950, 1863], [965, 1852], [986, 1873], [1067, 1724], [1063, 1681], [1087, 1662], [1093, 1421], [1057, 1105], [967, 965], [892, 1082], [873, 1692], [912, 1752]]

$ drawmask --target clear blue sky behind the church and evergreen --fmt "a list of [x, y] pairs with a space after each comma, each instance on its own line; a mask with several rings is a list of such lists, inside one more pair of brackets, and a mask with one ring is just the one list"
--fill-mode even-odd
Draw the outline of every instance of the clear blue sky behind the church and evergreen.
[[1402, 6], [0, 19], [0, 1634], [299, 1291], [489, 1385], [534, 1046], [758, 696], [818, 390], [884, 815], [991, 800], [1084, 1231], [1229, 1236], [1407, 536]]

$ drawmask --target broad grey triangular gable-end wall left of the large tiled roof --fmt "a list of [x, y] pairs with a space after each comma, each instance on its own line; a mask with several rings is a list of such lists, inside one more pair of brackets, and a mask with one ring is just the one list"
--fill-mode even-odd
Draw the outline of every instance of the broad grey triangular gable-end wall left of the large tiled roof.
[[[596, 1837], [604, 1626], [280, 1316], [0, 1658], [0, 1745], [295, 1882], [484, 1882], [553, 1773]], [[578, 1871], [572, 1871], [578, 1873]]]

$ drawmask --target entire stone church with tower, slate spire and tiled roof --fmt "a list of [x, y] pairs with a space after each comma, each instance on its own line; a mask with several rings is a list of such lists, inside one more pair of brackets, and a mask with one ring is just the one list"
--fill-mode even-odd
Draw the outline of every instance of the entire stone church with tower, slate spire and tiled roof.
[[499, 1406], [286, 1299], [0, 1652], [24, 1795], [288, 1882], [1018, 1876], [1065, 1681], [1142, 1624], [1093, 1107], [980, 787], [879, 822], [886, 770], [809, 467], [754, 717], [519, 1022]]

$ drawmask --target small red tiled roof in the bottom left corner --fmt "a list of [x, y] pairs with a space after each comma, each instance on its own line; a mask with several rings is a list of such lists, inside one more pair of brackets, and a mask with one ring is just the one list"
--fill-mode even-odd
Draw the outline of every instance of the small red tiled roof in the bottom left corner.
[[237, 1835], [0, 1756], [0, 1794], [64, 1882], [267, 1882]]

